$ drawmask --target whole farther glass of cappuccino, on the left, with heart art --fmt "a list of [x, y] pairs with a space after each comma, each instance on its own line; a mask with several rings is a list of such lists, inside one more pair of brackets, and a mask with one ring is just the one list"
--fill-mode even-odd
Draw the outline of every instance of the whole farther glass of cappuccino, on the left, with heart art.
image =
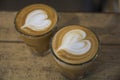
[[16, 30], [32, 51], [39, 55], [44, 55], [49, 50], [49, 41], [56, 23], [56, 11], [45, 4], [27, 6], [15, 18]]

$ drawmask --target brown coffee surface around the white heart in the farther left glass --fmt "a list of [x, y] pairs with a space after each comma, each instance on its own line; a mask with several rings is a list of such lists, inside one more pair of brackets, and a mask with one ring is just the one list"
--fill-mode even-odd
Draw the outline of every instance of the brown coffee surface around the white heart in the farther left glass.
[[[40, 30], [40, 31], [34, 31], [29, 28], [21, 29], [21, 27], [25, 24], [27, 15], [30, 12], [32, 12], [34, 10], [39, 10], [39, 9], [45, 11], [48, 15], [48, 18], [50, 20], [52, 20], [52, 24], [50, 25], [50, 27], [48, 27], [45, 30]], [[53, 8], [51, 8], [45, 4], [33, 4], [30, 6], [27, 6], [27, 7], [23, 8], [21, 11], [19, 11], [19, 13], [17, 14], [16, 19], [15, 19], [16, 29], [21, 33], [24, 33], [27, 35], [32, 35], [32, 36], [43, 35], [45, 33], [48, 33], [55, 27], [56, 22], [57, 22], [56, 11]]]

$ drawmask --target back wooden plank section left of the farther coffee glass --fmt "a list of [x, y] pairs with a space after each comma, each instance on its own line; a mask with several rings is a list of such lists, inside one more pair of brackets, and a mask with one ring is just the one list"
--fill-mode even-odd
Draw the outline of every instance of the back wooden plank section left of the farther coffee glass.
[[0, 12], [0, 40], [20, 40], [19, 34], [14, 28], [16, 12]]

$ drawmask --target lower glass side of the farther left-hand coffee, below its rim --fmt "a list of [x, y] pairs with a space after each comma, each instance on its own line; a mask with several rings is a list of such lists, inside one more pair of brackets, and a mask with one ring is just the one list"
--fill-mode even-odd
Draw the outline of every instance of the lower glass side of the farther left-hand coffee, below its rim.
[[53, 33], [54, 31], [40, 37], [32, 37], [21, 34], [21, 37], [33, 54], [44, 56], [49, 53], [49, 42]]

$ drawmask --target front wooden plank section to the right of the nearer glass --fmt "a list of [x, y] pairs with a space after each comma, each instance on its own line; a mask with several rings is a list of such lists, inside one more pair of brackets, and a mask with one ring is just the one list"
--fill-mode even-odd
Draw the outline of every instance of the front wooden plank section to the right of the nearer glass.
[[120, 80], [120, 46], [102, 46], [93, 69], [83, 80]]

